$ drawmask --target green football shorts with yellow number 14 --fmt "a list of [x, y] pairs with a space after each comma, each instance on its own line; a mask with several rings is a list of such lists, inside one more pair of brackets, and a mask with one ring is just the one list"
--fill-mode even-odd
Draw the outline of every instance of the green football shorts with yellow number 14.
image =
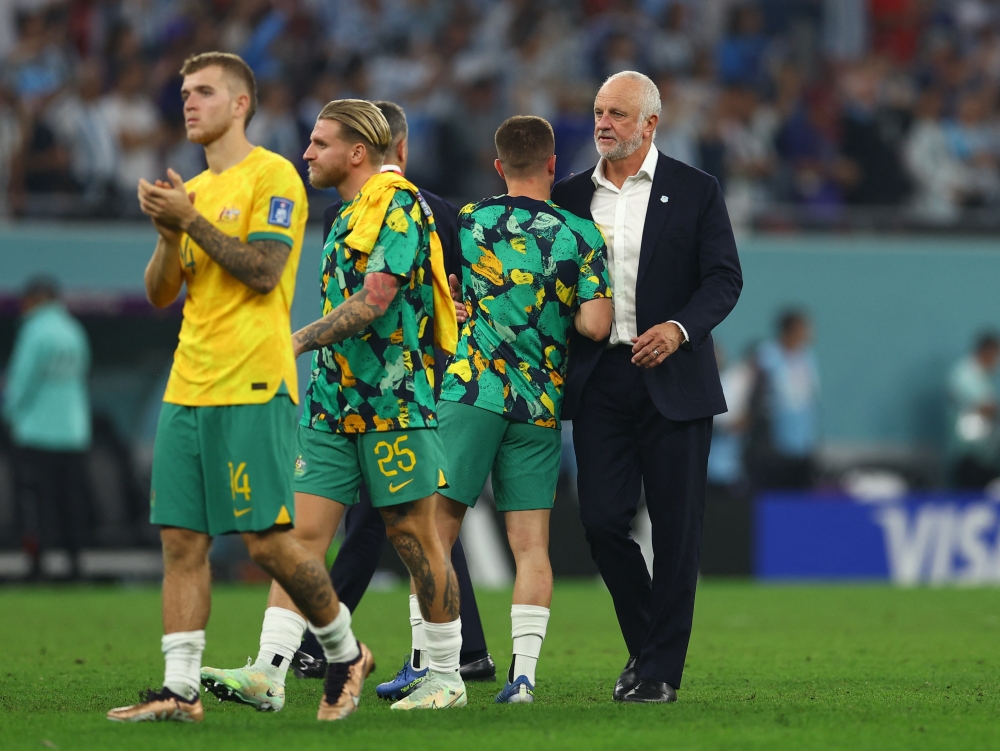
[[163, 404], [153, 447], [149, 520], [209, 535], [294, 523], [296, 408]]

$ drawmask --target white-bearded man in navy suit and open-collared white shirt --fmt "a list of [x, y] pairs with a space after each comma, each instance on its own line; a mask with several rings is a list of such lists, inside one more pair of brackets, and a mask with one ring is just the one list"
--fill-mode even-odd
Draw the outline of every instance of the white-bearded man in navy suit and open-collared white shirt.
[[[691, 636], [712, 417], [726, 411], [712, 343], [743, 276], [714, 177], [653, 146], [660, 95], [633, 71], [594, 102], [593, 170], [552, 199], [608, 241], [611, 336], [573, 335], [563, 419], [573, 422], [580, 514], [629, 660], [614, 698], [676, 701]], [[653, 576], [630, 536], [645, 490]]]

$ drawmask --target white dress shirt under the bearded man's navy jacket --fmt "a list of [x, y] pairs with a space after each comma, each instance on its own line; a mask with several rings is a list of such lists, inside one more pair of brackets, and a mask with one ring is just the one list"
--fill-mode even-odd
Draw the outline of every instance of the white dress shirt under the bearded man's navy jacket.
[[[639, 250], [642, 247], [642, 230], [646, 224], [646, 207], [649, 193], [653, 188], [653, 174], [659, 152], [650, 148], [643, 159], [639, 171], [627, 177], [619, 189], [604, 176], [605, 159], [597, 163], [591, 179], [594, 181], [594, 197], [590, 201], [590, 213], [594, 223], [601, 228], [608, 243], [608, 275], [614, 293], [612, 304], [614, 317], [611, 322], [611, 338], [608, 346], [631, 345], [632, 337], [644, 333], [639, 331], [635, 320], [635, 283], [639, 274]], [[677, 321], [684, 341], [687, 331]]]

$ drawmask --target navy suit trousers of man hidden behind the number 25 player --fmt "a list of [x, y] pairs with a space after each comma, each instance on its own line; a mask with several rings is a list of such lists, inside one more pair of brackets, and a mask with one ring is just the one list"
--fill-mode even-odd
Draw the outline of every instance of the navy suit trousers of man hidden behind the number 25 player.
[[[362, 486], [358, 503], [347, 508], [344, 514], [344, 541], [337, 552], [337, 559], [330, 569], [330, 581], [340, 601], [353, 613], [364, 597], [372, 576], [382, 559], [386, 542], [385, 521], [374, 508], [368, 490]], [[451, 565], [458, 579], [460, 615], [462, 617], [462, 664], [486, 656], [486, 636], [472, 590], [469, 566], [465, 560], [462, 541], [457, 540], [451, 549]], [[303, 649], [316, 657], [323, 650], [312, 631], [306, 631]]]

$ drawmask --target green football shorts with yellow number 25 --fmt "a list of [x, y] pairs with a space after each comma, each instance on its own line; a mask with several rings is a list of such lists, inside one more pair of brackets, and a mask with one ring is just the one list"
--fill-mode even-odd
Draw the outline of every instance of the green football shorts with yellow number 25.
[[327, 433], [299, 425], [295, 492], [351, 506], [364, 481], [372, 506], [398, 506], [447, 485], [435, 428], [378, 433]]

